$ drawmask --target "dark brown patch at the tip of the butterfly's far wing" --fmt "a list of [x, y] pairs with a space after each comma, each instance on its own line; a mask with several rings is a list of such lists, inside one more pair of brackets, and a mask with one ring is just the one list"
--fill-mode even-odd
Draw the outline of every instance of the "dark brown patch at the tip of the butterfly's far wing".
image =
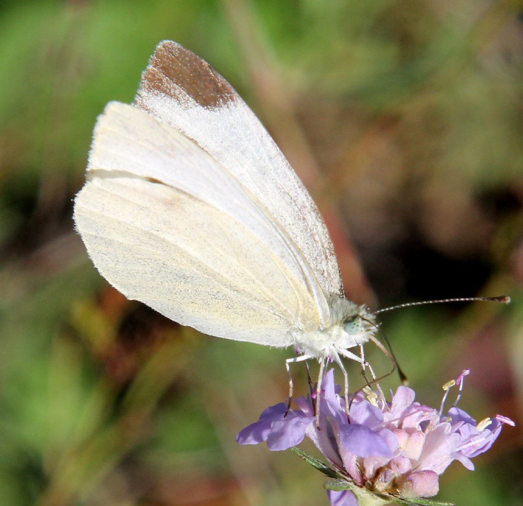
[[222, 107], [237, 97], [233, 87], [209, 63], [170, 40], [157, 46], [142, 75], [135, 99], [139, 106], [141, 92], [161, 93], [181, 104], [188, 95], [202, 107], [210, 108]]

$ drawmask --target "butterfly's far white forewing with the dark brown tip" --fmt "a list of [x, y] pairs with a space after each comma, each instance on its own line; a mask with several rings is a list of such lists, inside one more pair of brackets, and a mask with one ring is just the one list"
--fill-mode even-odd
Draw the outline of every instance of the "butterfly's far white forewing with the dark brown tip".
[[343, 295], [331, 239], [309, 193], [233, 87], [196, 54], [164, 41], [142, 75], [135, 104], [195, 140], [267, 208], [301, 256], [326, 321], [325, 295]]

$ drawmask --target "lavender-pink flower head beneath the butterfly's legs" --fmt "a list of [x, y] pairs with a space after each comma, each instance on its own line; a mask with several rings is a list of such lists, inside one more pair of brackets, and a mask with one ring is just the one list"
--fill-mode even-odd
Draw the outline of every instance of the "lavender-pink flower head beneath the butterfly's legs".
[[[276, 404], [261, 413], [258, 422], [244, 428], [236, 441], [257, 444], [263, 441], [271, 450], [285, 450], [309, 437], [333, 466], [338, 476], [353, 487], [329, 490], [332, 506], [356, 506], [358, 488], [392, 499], [435, 496], [439, 476], [453, 460], [473, 470], [471, 459], [486, 452], [501, 432], [503, 424], [514, 425], [496, 415], [476, 423], [456, 406], [461, 397], [465, 370], [444, 386], [440, 409], [414, 401], [414, 390], [400, 386], [386, 402], [380, 392], [366, 389], [350, 398], [349, 421], [341, 388], [334, 384], [334, 370], [327, 372], [320, 396], [320, 427], [316, 427], [314, 398], [297, 399], [299, 409]], [[456, 402], [443, 414], [449, 390], [458, 386]]]

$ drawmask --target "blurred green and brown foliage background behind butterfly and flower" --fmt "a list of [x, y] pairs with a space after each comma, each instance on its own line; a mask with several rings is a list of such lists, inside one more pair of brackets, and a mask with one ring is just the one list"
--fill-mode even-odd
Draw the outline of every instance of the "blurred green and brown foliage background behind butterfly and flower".
[[[463, 408], [521, 424], [518, 9], [477, 0], [4, 1], [0, 504], [327, 503], [321, 476], [290, 452], [234, 442], [285, 399], [289, 350], [201, 336], [128, 303], [73, 232], [96, 116], [110, 100], [132, 100], [166, 38], [231, 81], [322, 210], [337, 210], [327, 222], [337, 224], [356, 302], [513, 296], [509, 307], [386, 314], [382, 328], [420, 400], [438, 403], [440, 385], [470, 367]], [[373, 290], [356, 281], [357, 261]], [[294, 373], [303, 392], [303, 371]], [[357, 368], [351, 376], [359, 386]], [[474, 472], [454, 463], [439, 498], [520, 504], [520, 434], [506, 429]]]

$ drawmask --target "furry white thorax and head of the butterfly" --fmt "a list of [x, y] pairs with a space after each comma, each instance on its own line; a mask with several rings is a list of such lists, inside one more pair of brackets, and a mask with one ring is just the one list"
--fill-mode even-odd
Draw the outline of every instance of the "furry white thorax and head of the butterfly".
[[[331, 310], [328, 325], [313, 332], [294, 333], [295, 347], [300, 354], [334, 359], [339, 350], [366, 343], [376, 331], [376, 317], [365, 305], [359, 306], [336, 295], [329, 297], [328, 304]], [[347, 321], [353, 319], [361, 323], [361, 331], [357, 333], [345, 329]]]

